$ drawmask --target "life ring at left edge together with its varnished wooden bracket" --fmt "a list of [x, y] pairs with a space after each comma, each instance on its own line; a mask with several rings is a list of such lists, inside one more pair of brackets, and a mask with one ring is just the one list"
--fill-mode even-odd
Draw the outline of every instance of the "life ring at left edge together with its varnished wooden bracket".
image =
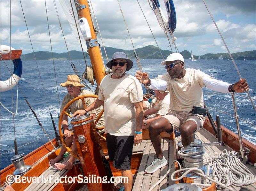
[[8, 80], [1, 81], [0, 91], [5, 92], [12, 89], [12, 87], [16, 86], [20, 80], [22, 74], [22, 61], [20, 59], [20, 55], [22, 50], [15, 50], [11, 47], [12, 56], [10, 55], [10, 46], [1, 45], [0, 50], [1, 60], [10, 60], [12, 58], [14, 66], [12, 76]]

